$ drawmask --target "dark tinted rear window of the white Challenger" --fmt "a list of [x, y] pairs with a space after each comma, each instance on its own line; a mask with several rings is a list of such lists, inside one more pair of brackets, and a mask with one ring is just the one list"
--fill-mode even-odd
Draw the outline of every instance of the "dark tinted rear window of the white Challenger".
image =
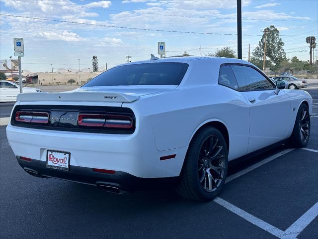
[[96, 76], [83, 87], [179, 85], [187, 69], [188, 64], [179, 62], [118, 66]]

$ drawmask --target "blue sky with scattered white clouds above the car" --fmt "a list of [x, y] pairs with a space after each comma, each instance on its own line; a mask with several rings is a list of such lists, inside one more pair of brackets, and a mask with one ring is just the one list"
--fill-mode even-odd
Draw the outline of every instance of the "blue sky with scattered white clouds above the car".
[[[55, 69], [78, 69], [78, 59], [81, 68], [91, 68], [93, 55], [97, 55], [100, 68], [105, 62], [108, 67], [125, 63], [126, 55], [131, 55], [132, 61], [149, 59], [150, 53], [157, 55], [159, 41], [166, 42], [166, 56], [184, 51], [199, 55], [200, 45], [202, 55], [223, 46], [237, 49], [236, 0], [1, 0], [0, 12], [89, 24], [1, 15], [0, 59], [14, 55], [13, 37], [23, 37], [22, 69], [30, 71], [50, 71], [50, 63]], [[248, 35], [242, 40], [244, 59], [248, 43], [252, 52], [261, 30], [269, 25], [285, 35], [287, 57], [308, 60], [305, 37], [318, 35], [318, 1], [242, 0], [242, 33]]]

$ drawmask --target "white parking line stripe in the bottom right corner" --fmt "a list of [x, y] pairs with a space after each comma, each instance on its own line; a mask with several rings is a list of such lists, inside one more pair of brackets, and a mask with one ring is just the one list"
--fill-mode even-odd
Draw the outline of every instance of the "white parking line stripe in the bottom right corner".
[[318, 202], [278, 237], [281, 239], [296, 238], [317, 216]]

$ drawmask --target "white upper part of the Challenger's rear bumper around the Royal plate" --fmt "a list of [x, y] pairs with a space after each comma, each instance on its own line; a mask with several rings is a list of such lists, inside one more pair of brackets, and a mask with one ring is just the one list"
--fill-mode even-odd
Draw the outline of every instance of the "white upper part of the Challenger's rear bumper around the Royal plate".
[[[108, 169], [140, 178], [179, 176], [187, 147], [159, 151], [150, 122], [142, 120], [142, 124], [143, 129], [137, 128], [133, 134], [119, 135], [23, 128], [9, 123], [6, 134], [16, 156], [42, 163], [46, 163], [49, 149], [70, 152], [71, 167]], [[160, 160], [172, 154], [175, 158]]]

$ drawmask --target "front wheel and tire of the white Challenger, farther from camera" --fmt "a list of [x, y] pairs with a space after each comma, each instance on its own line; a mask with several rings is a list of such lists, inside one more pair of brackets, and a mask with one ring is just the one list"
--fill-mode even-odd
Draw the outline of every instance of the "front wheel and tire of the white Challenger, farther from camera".
[[302, 104], [297, 112], [296, 120], [289, 143], [292, 147], [302, 148], [308, 144], [310, 136], [310, 116], [306, 104]]

